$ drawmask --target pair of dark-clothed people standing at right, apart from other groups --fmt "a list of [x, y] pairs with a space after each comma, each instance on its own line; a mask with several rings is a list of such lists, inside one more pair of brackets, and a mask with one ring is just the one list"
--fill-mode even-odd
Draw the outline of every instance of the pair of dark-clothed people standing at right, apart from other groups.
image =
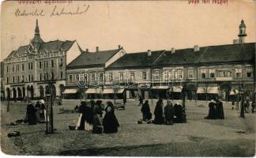
[[220, 100], [210, 101], [209, 114], [205, 119], [224, 119], [223, 103]]

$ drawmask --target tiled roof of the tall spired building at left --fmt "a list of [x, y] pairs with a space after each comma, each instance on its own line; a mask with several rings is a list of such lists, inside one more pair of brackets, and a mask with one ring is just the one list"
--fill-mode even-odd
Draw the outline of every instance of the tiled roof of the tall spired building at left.
[[[68, 51], [70, 49], [70, 47], [73, 45], [75, 41], [70, 41], [70, 40], [66, 40], [66, 41], [61, 41], [61, 40], [55, 40], [55, 41], [49, 41], [47, 43], [41, 43], [39, 45], [38, 50], [40, 51], [40, 53], [46, 53], [46, 52], [50, 52], [50, 51]], [[28, 47], [30, 45], [25, 45], [25, 46], [21, 46], [17, 49], [17, 51], [12, 51], [7, 58], [11, 58], [13, 56], [21, 56], [24, 55], [26, 53], [28, 53]]]

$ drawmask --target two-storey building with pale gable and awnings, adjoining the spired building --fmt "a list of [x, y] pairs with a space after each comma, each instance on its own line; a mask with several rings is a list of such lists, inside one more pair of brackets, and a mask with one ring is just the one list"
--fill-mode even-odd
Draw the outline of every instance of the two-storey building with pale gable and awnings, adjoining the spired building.
[[100, 51], [99, 47], [96, 52], [84, 51], [66, 66], [65, 98], [102, 98], [106, 92], [105, 68], [123, 55], [126, 51], [121, 46], [107, 51]]

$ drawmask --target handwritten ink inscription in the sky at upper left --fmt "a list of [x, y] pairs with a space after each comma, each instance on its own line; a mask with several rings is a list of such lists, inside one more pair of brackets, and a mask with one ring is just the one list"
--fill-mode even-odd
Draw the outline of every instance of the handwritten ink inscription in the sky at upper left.
[[15, 16], [16, 17], [41, 17], [41, 16], [49, 16], [49, 17], [60, 17], [60, 16], [75, 16], [81, 15], [88, 12], [89, 5], [78, 6], [75, 9], [70, 9], [68, 6], [54, 6], [52, 11], [46, 12], [44, 9], [16, 9]]

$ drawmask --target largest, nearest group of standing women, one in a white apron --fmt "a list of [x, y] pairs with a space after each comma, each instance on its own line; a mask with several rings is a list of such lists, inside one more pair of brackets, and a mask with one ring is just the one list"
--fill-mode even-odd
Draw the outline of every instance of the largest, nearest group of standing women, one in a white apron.
[[104, 108], [101, 100], [82, 100], [78, 108], [80, 114], [76, 130], [92, 131], [93, 134], [118, 132], [119, 121], [115, 117], [115, 107], [111, 101], [107, 101], [107, 107]]

